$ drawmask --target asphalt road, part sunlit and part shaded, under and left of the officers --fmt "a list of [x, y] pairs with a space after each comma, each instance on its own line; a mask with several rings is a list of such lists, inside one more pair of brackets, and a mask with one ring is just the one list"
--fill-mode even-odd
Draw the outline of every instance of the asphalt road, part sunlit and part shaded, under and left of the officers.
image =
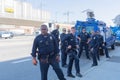
[[[41, 80], [39, 64], [34, 66], [31, 62], [30, 52], [33, 39], [33, 36], [0, 39], [0, 80]], [[112, 56], [115, 51], [110, 50], [110, 55]], [[101, 56], [99, 65], [105, 60], [105, 56]], [[83, 54], [80, 59], [80, 68], [83, 77], [91, 69], [91, 64], [92, 60], [87, 60]], [[66, 74], [67, 69], [62, 68], [62, 70], [67, 80], [80, 80], [79, 77], [75, 79], [68, 78]], [[73, 67], [73, 74], [75, 73], [76, 71]], [[58, 80], [52, 67], [49, 68], [48, 80]]]

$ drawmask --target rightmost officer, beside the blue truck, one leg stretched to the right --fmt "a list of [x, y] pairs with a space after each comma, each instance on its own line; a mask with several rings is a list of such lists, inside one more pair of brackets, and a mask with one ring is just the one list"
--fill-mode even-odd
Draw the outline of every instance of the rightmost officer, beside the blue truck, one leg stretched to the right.
[[97, 35], [98, 35], [98, 42], [99, 42], [99, 52], [101, 52], [101, 54], [103, 54], [103, 50], [105, 52], [106, 58], [110, 58], [109, 53], [108, 53], [108, 49], [105, 45], [103, 36], [100, 34], [100, 31], [97, 31]]

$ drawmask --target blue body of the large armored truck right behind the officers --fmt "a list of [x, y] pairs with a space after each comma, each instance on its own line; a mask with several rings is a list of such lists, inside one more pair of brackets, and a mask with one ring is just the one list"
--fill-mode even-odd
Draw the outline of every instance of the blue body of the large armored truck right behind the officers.
[[79, 34], [82, 28], [86, 28], [86, 31], [90, 33], [92, 30], [100, 31], [100, 34], [104, 37], [104, 42], [106, 43], [107, 47], [111, 47], [115, 49], [115, 36], [112, 34], [110, 28], [106, 26], [106, 23], [103, 21], [96, 20], [95, 18], [87, 18], [86, 21], [76, 21], [75, 24], [76, 28], [76, 35]]

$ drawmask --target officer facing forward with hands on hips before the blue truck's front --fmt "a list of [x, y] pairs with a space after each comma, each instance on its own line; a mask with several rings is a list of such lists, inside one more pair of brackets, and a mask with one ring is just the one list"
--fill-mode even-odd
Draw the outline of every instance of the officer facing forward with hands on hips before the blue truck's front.
[[80, 40], [80, 51], [78, 57], [80, 58], [84, 47], [86, 52], [86, 57], [87, 59], [90, 59], [88, 52], [88, 43], [90, 41], [90, 35], [86, 32], [85, 28], [83, 28], [82, 32], [78, 35], [78, 39]]

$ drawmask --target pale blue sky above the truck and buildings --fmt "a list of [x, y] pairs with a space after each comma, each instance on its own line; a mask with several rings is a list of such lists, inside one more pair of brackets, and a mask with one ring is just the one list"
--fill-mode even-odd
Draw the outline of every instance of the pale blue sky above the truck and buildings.
[[95, 18], [102, 20], [108, 25], [112, 24], [112, 19], [120, 14], [120, 0], [23, 0], [32, 4], [34, 8], [47, 10], [51, 13], [51, 21], [67, 22], [69, 12], [69, 22], [76, 20], [86, 20], [86, 13], [82, 11], [91, 9]]

